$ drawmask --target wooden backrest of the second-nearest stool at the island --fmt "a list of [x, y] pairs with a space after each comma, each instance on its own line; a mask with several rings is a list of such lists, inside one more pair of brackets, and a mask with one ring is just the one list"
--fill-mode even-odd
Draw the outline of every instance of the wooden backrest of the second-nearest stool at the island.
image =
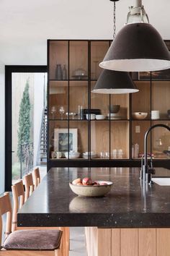
[[12, 232], [17, 229], [17, 212], [24, 205], [24, 185], [22, 180], [12, 186], [14, 208], [12, 213]]

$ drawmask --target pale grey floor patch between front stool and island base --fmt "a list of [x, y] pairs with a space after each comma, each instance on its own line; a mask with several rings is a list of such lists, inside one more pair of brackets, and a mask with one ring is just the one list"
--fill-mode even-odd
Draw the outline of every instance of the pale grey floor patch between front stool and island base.
[[69, 256], [87, 256], [84, 228], [70, 228]]

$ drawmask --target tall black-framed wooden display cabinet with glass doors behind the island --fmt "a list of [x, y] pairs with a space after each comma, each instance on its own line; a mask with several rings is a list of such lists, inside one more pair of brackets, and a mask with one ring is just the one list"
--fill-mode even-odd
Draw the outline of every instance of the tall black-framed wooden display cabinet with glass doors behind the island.
[[[48, 40], [48, 165], [140, 166], [145, 132], [152, 124], [170, 123], [170, 79], [139, 74], [139, 93], [91, 93], [101, 73], [99, 62], [109, 40]], [[154, 74], [155, 76], [155, 74]], [[117, 113], [112, 107], [120, 106]], [[151, 111], [160, 119], [151, 119]], [[133, 118], [146, 112], [146, 119]], [[89, 114], [89, 115], [88, 115]], [[94, 115], [93, 115], [94, 114]], [[97, 115], [104, 119], [97, 119]], [[91, 117], [91, 119], [90, 119]], [[138, 145], [138, 154], [132, 148]], [[148, 137], [148, 152], [160, 163], [169, 156], [170, 133], [157, 128]], [[79, 154], [75, 154], [79, 152]], [[161, 162], [162, 161], [162, 162]]]

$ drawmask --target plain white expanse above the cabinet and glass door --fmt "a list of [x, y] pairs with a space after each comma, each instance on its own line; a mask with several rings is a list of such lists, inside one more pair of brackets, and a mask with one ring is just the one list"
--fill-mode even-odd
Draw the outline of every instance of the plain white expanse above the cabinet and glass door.
[[[133, 1], [116, 3], [117, 32]], [[170, 39], [170, 1], [143, 0], [143, 4], [151, 24]], [[47, 64], [47, 39], [110, 39], [112, 6], [109, 0], [0, 0], [0, 61]]]

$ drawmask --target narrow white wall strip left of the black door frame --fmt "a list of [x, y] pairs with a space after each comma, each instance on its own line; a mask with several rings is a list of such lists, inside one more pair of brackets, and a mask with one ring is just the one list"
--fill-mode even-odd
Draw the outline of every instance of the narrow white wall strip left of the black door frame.
[[4, 192], [4, 64], [0, 62], [0, 194]]

